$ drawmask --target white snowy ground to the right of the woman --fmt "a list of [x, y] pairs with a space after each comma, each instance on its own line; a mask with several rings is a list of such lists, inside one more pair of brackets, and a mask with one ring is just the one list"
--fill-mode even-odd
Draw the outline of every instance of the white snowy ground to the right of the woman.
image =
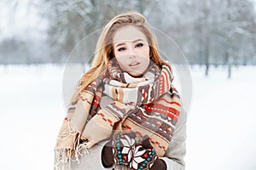
[[[236, 69], [236, 70], [235, 70]], [[255, 67], [192, 70], [194, 96], [188, 119], [190, 169], [255, 169]]]

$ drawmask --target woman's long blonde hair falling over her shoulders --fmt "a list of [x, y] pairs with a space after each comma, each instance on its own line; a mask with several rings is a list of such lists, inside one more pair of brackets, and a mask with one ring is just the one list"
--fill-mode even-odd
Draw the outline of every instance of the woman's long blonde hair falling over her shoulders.
[[139, 14], [137, 12], [119, 14], [113, 17], [113, 19], [104, 27], [102, 34], [96, 43], [95, 56], [91, 63], [90, 70], [81, 77], [79, 81], [79, 88], [76, 93], [73, 94], [71, 102], [76, 101], [79, 94], [106, 70], [108, 61], [114, 57], [113, 36], [119, 28], [124, 26], [135, 26], [139, 31], [142, 31], [147, 37], [150, 59], [154, 61], [156, 65], [166, 64], [166, 62], [160, 57], [156, 38], [153, 32], [150, 31], [143, 14]]

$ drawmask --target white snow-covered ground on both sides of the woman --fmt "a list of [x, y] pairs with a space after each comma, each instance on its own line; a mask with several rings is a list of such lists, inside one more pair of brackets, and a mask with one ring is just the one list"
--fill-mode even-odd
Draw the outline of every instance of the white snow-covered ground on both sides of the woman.
[[[1, 169], [53, 169], [56, 135], [65, 116], [64, 68], [0, 65]], [[191, 68], [187, 170], [256, 169], [256, 67]]]

